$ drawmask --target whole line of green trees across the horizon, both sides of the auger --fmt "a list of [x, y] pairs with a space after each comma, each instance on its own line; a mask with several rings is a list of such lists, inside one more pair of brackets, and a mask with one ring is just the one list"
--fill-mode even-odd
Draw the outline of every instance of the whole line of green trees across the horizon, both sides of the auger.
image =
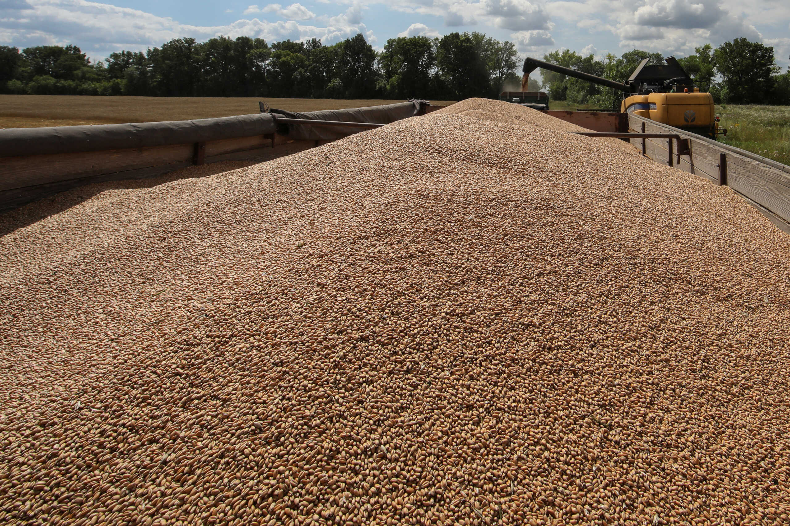
[[[608, 79], [626, 80], [644, 58], [662, 54], [632, 50], [598, 60], [555, 50], [544, 60]], [[701, 91], [725, 103], [790, 104], [790, 70], [781, 74], [773, 47], [734, 39], [714, 49], [698, 47], [679, 58]], [[358, 34], [325, 46], [321, 40], [225, 36], [198, 43], [172, 39], [145, 52], [119, 51], [92, 62], [77, 46], [0, 47], [0, 91], [32, 95], [143, 95], [201, 97], [298, 97], [316, 99], [460, 100], [495, 98], [521, 89], [520, 61], [511, 42], [479, 32], [387, 40], [381, 52]], [[622, 94], [543, 71], [551, 99], [619, 107]]]

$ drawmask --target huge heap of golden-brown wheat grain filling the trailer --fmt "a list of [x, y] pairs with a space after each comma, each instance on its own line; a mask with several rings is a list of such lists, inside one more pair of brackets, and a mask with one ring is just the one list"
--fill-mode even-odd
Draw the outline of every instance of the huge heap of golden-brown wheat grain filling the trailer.
[[468, 115], [107, 192], [0, 238], [0, 522], [787, 524], [788, 262]]

